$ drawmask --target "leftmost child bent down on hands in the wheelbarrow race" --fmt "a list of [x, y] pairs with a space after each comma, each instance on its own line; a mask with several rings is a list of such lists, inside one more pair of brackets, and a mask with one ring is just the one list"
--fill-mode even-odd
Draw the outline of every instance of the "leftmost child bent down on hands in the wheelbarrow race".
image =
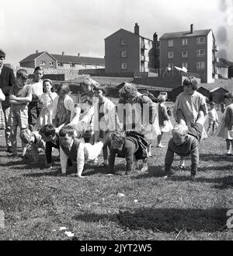
[[30, 129], [23, 129], [19, 134], [20, 139], [26, 145], [31, 146], [31, 153], [35, 163], [39, 163], [39, 150], [45, 149], [45, 142], [39, 132], [31, 132]]

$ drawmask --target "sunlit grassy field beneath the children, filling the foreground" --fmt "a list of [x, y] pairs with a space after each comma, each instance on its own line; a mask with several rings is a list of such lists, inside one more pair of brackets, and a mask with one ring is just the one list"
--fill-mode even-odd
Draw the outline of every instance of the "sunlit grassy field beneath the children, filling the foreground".
[[[156, 147], [144, 174], [110, 176], [104, 168], [86, 165], [83, 179], [72, 176], [75, 166], [59, 177], [59, 162], [53, 170], [43, 169], [43, 153], [37, 165], [9, 158], [4, 131], [0, 135], [0, 210], [5, 212], [0, 240], [233, 239], [226, 226], [226, 213], [233, 209], [233, 156], [224, 156], [224, 139], [210, 135], [200, 142], [193, 183], [190, 159], [181, 171], [177, 156], [175, 177], [165, 180], [166, 149]], [[165, 134], [162, 142], [167, 144], [170, 136]], [[117, 159], [116, 168], [124, 170], [125, 161]], [[59, 230], [62, 226], [67, 230]]]

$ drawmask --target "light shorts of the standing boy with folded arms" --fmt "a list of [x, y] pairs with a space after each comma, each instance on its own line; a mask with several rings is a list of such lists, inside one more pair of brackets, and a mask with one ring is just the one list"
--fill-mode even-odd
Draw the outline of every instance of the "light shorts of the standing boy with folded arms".
[[12, 105], [9, 114], [9, 125], [19, 125], [20, 129], [28, 127], [28, 107], [25, 105]]

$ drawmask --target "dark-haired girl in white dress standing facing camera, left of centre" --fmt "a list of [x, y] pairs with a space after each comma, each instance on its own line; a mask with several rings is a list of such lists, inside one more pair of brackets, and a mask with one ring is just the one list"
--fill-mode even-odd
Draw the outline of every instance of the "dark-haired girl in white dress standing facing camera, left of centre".
[[52, 124], [53, 103], [57, 93], [54, 93], [53, 84], [50, 79], [43, 80], [43, 92], [39, 100], [41, 111], [35, 126], [36, 130], [40, 130], [46, 124]]

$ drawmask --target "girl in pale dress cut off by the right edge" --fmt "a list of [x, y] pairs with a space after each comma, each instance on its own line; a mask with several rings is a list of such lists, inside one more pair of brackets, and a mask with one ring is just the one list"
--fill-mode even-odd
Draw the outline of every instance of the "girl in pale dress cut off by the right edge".
[[224, 103], [226, 108], [221, 119], [221, 123], [217, 128], [216, 135], [226, 139], [227, 156], [233, 156], [231, 149], [233, 149], [233, 95], [226, 93], [224, 95]]

